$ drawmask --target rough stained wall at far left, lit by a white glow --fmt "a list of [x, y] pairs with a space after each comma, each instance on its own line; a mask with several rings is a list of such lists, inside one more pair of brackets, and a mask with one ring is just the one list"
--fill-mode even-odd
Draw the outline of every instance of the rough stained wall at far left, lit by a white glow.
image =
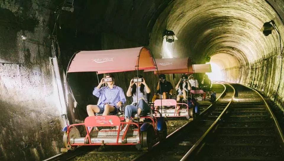
[[62, 147], [49, 3], [0, 1], [0, 160], [43, 160]]

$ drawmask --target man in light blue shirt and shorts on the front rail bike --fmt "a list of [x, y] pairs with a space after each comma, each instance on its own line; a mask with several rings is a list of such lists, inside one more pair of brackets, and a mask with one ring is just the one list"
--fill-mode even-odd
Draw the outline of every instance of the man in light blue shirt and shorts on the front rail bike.
[[[104, 83], [107, 86], [101, 88]], [[117, 111], [117, 107], [126, 102], [122, 88], [114, 85], [114, 78], [111, 74], [106, 74], [105, 78], [101, 79], [99, 85], [95, 87], [93, 95], [98, 97], [99, 101], [97, 105], [89, 104], [87, 106], [89, 116], [94, 116], [95, 113], [109, 115], [109, 112]]]

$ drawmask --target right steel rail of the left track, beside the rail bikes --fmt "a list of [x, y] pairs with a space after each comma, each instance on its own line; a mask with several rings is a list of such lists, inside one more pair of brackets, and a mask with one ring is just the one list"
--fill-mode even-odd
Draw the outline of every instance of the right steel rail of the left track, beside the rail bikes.
[[[223, 83], [220, 83], [220, 82], [216, 82], [216, 83], [219, 83], [221, 85], [224, 86], [224, 91], [220, 94], [220, 96], [216, 99], [216, 101], [214, 103], [212, 103], [208, 108], [206, 108], [206, 110], [204, 110], [203, 112], [200, 113], [200, 116], [199, 117], [202, 117], [206, 114], [206, 112], [214, 105], [216, 104], [216, 102], [225, 94], [225, 91], [226, 91], [226, 86], [223, 84]], [[166, 139], [162, 142], [157, 142], [156, 144], [154, 144], [152, 146], [152, 149], [149, 151], [149, 152], [144, 152], [140, 155], [138, 155], [137, 157], [135, 157], [134, 159], [132, 159], [131, 161], [138, 161], [138, 160], [149, 160], [149, 156], [150, 155], [154, 155], [156, 154], [155, 151], [156, 150], [159, 150], [161, 146], [163, 146], [164, 144], [167, 144], [168, 142], [170, 142], [171, 140], [174, 140], [175, 138], [177, 138], [177, 136], [182, 133], [183, 131], [185, 131], [188, 127], [190, 127], [191, 125], [194, 125], [196, 121], [193, 120], [193, 121], [190, 121], [186, 124], [184, 124], [183, 126], [181, 126], [180, 128], [176, 129], [174, 132], [172, 132], [171, 134], [169, 134]]]

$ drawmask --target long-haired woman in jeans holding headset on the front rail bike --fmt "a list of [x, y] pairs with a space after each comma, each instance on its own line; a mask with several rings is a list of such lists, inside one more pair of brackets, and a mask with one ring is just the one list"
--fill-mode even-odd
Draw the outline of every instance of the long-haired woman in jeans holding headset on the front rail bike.
[[[138, 113], [138, 115], [145, 115], [150, 112], [150, 106], [148, 104], [148, 96], [151, 92], [147, 86], [145, 79], [142, 75], [134, 77], [130, 80], [130, 85], [126, 92], [126, 96], [132, 97], [133, 102], [125, 107], [125, 122], [130, 121], [130, 117]], [[137, 112], [138, 107], [138, 112]]]

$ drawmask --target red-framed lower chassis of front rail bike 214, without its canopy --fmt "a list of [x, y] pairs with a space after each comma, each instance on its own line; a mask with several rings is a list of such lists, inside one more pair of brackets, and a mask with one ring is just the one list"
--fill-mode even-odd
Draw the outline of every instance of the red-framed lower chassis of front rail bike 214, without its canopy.
[[[135, 145], [137, 149], [149, 146], [155, 142], [155, 136], [160, 135], [157, 128], [157, 119], [154, 117], [140, 117], [148, 119], [148, 123], [140, 122], [122, 122], [124, 117], [115, 115], [107, 116], [88, 116], [84, 123], [72, 124], [66, 126], [66, 132], [63, 136], [63, 143], [67, 149], [72, 149], [82, 145]], [[149, 123], [150, 122], [150, 123]], [[125, 131], [122, 131], [125, 125], [130, 124]], [[79, 126], [85, 129], [86, 134], [80, 134]], [[77, 128], [78, 127], [78, 128]], [[104, 127], [96, 131], [93, 127]], [[140, 128], [138, 128], [140, 127]], [[81, 137], [83, 136], [83, 137]], [[160, 136], [165, 137], [165, 136]], [[157, 141], [157, 140], [156, 140]]]

